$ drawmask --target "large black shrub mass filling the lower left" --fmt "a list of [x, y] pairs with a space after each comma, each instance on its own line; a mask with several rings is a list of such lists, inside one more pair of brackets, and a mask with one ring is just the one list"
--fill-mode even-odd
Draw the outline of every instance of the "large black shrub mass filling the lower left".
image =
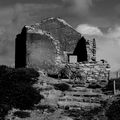
[[[0, 109], [32, 109], [43, 96], [33, 88], [39, 73], [31, 68], [0, 66]], [[5, 106], [8, 106], [7, 108]]]

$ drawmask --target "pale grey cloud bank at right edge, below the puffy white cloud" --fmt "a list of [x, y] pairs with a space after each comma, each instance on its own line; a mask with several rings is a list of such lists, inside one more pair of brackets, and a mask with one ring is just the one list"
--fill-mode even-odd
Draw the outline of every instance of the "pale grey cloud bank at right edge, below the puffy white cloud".
[[[99, 46], [97, 50], [97, 59], [107, 60], [111, 65], [112, 71], [120, 69], [120, 46], [114, 40], [104, 37], [104, 41], [97, 44]], [[99, 43], [99, 41], [97, 42]]]

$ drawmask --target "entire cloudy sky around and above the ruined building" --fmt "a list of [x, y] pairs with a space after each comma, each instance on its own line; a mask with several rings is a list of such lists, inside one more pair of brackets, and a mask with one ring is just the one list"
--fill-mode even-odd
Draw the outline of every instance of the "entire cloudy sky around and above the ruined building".
[[47, 17], [61, 17], [95, 37], [98, 58], [120, 68], [120, 0], [0, 0], [0, 64], [14, 64], [14, 39], [22, 27]]

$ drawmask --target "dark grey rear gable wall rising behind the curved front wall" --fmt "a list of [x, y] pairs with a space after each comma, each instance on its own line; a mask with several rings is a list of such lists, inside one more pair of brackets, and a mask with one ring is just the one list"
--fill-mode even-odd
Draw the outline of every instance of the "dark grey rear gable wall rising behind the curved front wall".
[[81, 34], [74, 30], [64, 20], [48, 18], [32, 26], [34, 29], [47, 31], [53, 38], [60, 41], [62, 51], [73, 52]]

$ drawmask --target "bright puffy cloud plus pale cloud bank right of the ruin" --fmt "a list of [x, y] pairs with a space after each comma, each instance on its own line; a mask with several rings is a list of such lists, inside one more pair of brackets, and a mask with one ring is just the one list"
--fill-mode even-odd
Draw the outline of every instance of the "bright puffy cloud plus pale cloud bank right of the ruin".
[[96, 39], [97, 60], [107, 60], [112, 71], [120, 69], [120, 26], [109, 28], [107, 33], [103, 33], [98, 27], [88, 24], [80, 24], [76, 29], [87, 39]]

